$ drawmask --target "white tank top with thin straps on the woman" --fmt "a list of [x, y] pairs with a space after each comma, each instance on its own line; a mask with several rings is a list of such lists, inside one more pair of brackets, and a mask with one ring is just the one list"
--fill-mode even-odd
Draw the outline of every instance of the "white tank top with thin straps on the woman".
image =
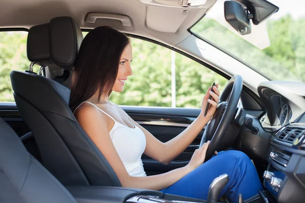
[[[92, 104], [89, 101], [84, 101], [83, 103]], [[81, 103], [78, 107], [80, 107], [83, 103]], [[111, 118], [114, 121], [114, 125], [110, 130], [109, 135], [114, 145], [114, 148], [118, 153], [118, 156], [123, 162], [129, 175], [146, 176], [146, 173], [143, 168], [143, 163], [141, 160], [141, 156], [146, 147], [146, 138], [144, 132], [136, 125], [134, 125], [134, 128], [130, 128], [126, 125], [117, 122], [112, 118], [112, 116], [101, 110], [99, 107], [97, 107], [94, 104], [92, 105], [95, 106], [98, 110], [100, 110], [104, 114], [106, 114], [107, 116], [109, 116], [109, 118]], [[124, 111], [121, 110], [118, 106], [116, 107], [120, 111]], [[74, 110], [74, 112], [76, 111], [76, 109]]]

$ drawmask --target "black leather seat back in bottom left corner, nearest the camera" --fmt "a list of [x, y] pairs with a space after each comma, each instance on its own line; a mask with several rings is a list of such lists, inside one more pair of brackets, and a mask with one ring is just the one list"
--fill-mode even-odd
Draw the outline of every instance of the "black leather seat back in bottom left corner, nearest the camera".
[[74, 197], [31, 154], [0, 118], [0, 202], [73, 202]]

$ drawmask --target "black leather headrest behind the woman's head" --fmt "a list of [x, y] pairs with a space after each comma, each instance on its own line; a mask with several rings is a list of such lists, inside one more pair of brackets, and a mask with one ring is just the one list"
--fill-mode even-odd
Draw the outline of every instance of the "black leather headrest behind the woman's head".
[[50, 23], [29, 29], [27, 58], [39, 61], [39, 65], [56, 64], [73, 70], [82, 40], [81, 29], [71, 17], [56, 17]]

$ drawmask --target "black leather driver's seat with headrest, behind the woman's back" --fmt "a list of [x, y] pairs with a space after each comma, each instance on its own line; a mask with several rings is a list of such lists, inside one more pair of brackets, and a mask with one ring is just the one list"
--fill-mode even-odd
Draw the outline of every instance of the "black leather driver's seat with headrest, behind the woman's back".
[[[81, 29], [70, 17], [29, 29], [27, 57], [42, 66], [73, 70]], [[21, 118], [38, 145], [43, 165], [64, 185], [121, 186], [112, 167], [76, 121], [68, 104], [70, 90], [32, 72], [11, 72]]]

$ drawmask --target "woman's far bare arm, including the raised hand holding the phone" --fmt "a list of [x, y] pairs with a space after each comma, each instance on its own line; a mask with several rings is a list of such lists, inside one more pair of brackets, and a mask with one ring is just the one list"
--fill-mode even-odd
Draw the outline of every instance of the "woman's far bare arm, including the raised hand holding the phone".
[[209, 93], [211, 87], [208, 88], [208, 91], [202, 100], [200, 115], [192, 122], [191, 125], [178, 134], [178, 136], [166, 143], [160, 142], [153, 136], [153, 134], [133, 120], [134, 124], [142, 129], [146, 137], [146, 148], [144, 154], [164, 164], [170, 163], [179, 154], [181, 154], [195, 140], [199, 132], [215, 113], [217, 107], [217, 103], [215, 101], [210, 101], [211, 105], [206, 117], [203, 116], [202, 112], [205, 110], [205, 106], [208, 102], [207, 99], [210, 94], [214, 100], [219, 101], [219, 90], [217, 88], [218, 85], [216, 88], [214, 88], [215, 93]]

